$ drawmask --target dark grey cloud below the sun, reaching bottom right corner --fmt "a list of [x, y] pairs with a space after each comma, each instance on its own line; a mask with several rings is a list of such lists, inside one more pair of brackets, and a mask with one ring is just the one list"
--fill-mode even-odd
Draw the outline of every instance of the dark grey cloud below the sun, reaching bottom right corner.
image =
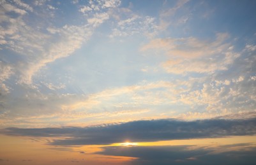
[[[238, 144], [248, 147], [248, 144]], [[132, 164], [255, 164], [256, 149], [213, 152], [213, 149], [191, 149], [190, 145], [182, 146], [137, 146], [137, 147], [103, 147], [97, 154], [137, 157]], [[234, 147], [223, 145], [220, 151]]]

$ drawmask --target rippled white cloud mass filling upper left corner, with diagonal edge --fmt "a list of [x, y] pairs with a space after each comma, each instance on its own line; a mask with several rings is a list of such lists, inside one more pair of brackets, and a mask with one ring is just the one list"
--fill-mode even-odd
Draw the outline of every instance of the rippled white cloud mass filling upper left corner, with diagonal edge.
[[[89, 40], [93, 31], [105, 20], [109, 19], [107, 11], [119, 6], [120, 1], [90, 1], [95, 10], [85, 17], [87, 22], [82, 25], [70, 25], [63, 22], [63, 26], [54, 27], [52, 20], [42, 18], [55, 16], [48, 9], [54, 9], [45, 1], [35, 1], [37, 11], [29, 4], [16, 0], [11, 4], [1, 2], [0, 46], [1, 49], [14, 51], [22, 59], [15, 63], [15, 75], [19, 84], [33, 84], [33, 76], [48, 63], [59, 58], [72, 55], [82, 44]], [[14, 5], [15, 4], [15, 5]], [[45, 5], [45, 7], [43, 6]], [[31, 11], [27, 13], [27, 11]], [[40, 12], [39, 12], [40, 11]], [[13, 17], [10, 12], [17, 13]], [[28, 18], [44, 20], [44, 22], [31, 23]], [[52, 26], [49, 26], [52, 25]], [[42, 30], [47, 29], [47, 31]], [[40, 42], [38, 42], [40, 40]]]

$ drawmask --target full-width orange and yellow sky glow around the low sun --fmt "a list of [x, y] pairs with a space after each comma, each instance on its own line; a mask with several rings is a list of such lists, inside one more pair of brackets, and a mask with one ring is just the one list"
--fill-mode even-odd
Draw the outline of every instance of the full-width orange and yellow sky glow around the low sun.
[[[204, 138], [190, 140], [167, 140], [161, 142], [124, 142], [111, 145], [79, 145], [79, 146], [52, 146], [46, 143], [50, 138], [29, 138], [0, 136], [0, 155], [4, 164], [129, 164], [136, 157], [101, 155], [103, 147], [120, 146], [174, 146], [190, 145], [188, 149], [211, 148], [213, 153], [229, 150], [246, 149], [245, 146], [227, 147], [220, 150], [223, 145], [248, 143], [256, 147], [256, 136], [230, 136], [226, 138]], [[240, 147], [240, 148], [239, 148]], [[242, 148], [241, 148], [242, 147]], [[192, 159], [192, 158], [191, 158]]]

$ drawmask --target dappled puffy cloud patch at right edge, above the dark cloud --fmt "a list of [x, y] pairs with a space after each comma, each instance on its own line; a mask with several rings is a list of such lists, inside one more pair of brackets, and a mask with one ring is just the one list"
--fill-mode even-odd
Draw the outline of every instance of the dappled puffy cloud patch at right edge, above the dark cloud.
[[[232, 71], [229, 70], [229, 72]], [[199, 83], [200, 86], [197, 89], [190, 89], [182, 93], [179, 101], [190, 105], [190, 107], [193, 107], [192, 111], [203, 116], [206, 114], [220, 116], [220, 114], [252, 112], [255, 110], [254, 93], [256, 88], [253, 86], [253, 81], [246, 80], [244, 76], [229, 78], [225, 74], [219, 77], [220, 75], [221, 73], [215, 73], [218, 78], [213, 75], [213, 77], [206, 77], [202, 84]]]

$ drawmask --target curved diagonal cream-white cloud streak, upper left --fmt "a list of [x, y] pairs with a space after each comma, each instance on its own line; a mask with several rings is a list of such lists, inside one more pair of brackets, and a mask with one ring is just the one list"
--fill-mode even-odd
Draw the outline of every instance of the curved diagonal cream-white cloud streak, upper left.
[[32, 59], [33, 62], [21, 66], [22, 76], [20, 77], [20, 83], [31, 84], [32, 77], [41, 67], [59, 58], [72, 55], [92, 34], [92, 29], [68, 25], [61, 29], [51, 28], [50, 31], [57, 32], [56, 35], [59, 36], [59, 40], [56, 43], [52, 43], [40, 56]]

